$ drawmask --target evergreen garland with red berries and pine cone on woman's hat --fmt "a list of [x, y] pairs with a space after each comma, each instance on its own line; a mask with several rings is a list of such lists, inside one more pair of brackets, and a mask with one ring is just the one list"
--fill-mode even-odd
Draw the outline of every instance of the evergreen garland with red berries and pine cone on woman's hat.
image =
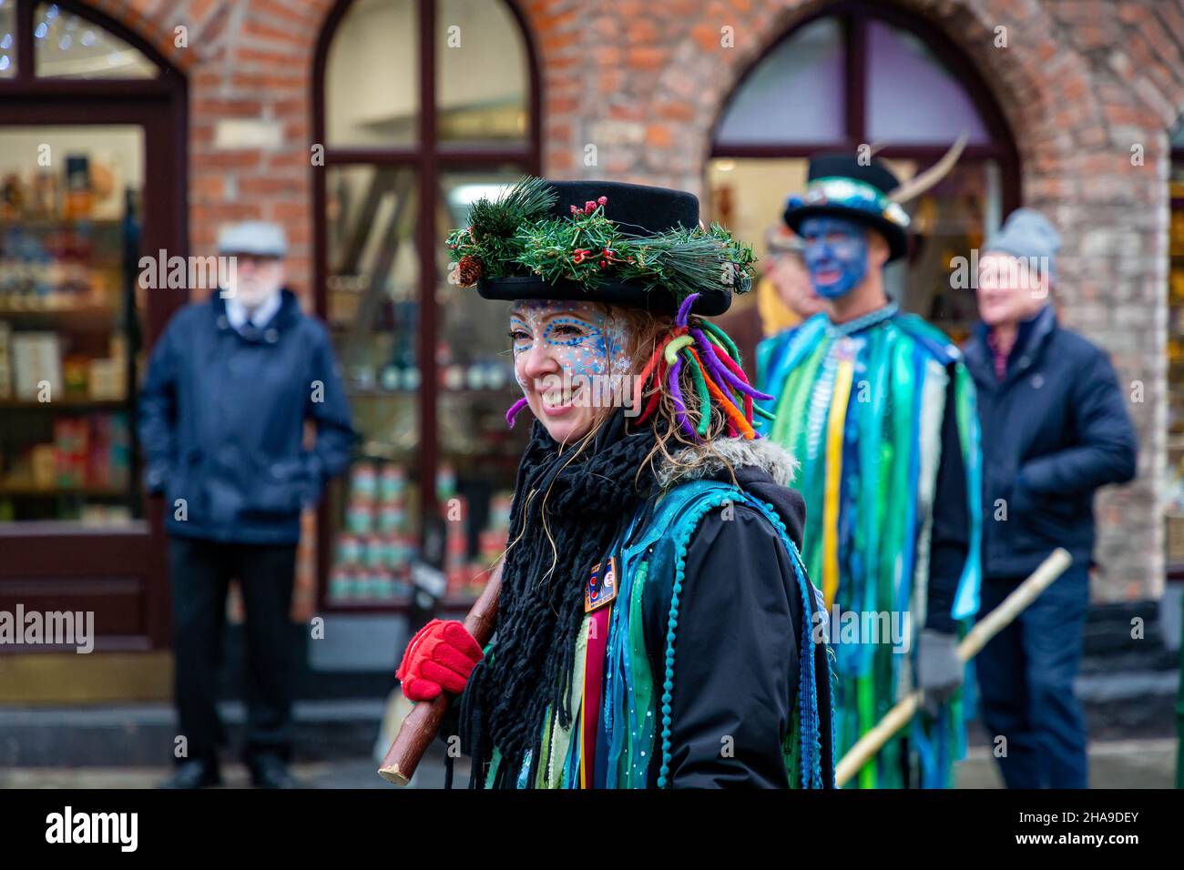
[[718, 224], [635, 237], [605, 217], [605, 196], [572, 205], [568, 217], [547, 217], [555, 195], [542, 179], [525, 178], [496, 201], [474, 202], [469, 226], [448, 237], [458, 283], [529, 273], [594, 290], [605, 279], [637, 281], [677, 298], [712, 286], [745, 292], [752, 285], [752, 246]]

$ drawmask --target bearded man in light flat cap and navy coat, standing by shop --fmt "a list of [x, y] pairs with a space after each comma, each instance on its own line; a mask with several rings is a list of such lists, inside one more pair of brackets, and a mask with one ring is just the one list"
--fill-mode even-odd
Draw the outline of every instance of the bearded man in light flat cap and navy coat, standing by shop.
[[[215, 707], [226, 593], [246, 618], [246, 745], [262, 787], [292, 787], [296, 653], [289, 621], [300, 516], [348, 464], [354, 432], [324, 327], [284, 289], [275, 224], [221, 233], [225, 286], [181, 309], [140, 397], [144, 479], [165, 496], [181, 735], [166, 787], [218, 785]], [[305, 445], [305, 424], [316, 428]], [[185, 747], [181, 752], [180, 747]]]

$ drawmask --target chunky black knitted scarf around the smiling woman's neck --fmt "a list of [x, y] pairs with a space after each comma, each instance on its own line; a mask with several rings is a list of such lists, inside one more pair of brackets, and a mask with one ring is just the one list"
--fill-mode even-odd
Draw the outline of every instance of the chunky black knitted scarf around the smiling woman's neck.
[[560, 451], [534, 423], [514, 491], [497, 633], [461, 696], [462, 749], [472, 759], [470, 787], [484, 786], [495, 747], [502, 759], [495, 787], [516, 784], [528, 750], [533, 779], [548, 705], [561, 726], [571, 724], [584, 584], [654, 494], [650, 465], [641, 475], [638, 469], [655, 438], [652, 426], [626, 434], [618, 411], [573, 458], [574, 446]]

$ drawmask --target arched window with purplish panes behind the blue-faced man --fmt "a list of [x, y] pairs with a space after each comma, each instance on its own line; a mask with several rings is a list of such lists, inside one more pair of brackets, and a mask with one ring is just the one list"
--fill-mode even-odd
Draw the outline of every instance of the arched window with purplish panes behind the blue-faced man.
[[888, 276], [905, 308], [960, 339], [976, 307], [957, 258], [969, 260], [1018, 205], [1018, 157], [974, 70], [924, 21], [844, 4], [786, 33], [744, 76], [716, 123], [713, 211], [742, 238], [762, 239], [780, 221], [785, 198], [805, 186], [811, 154], [875, 146], [906, 180], [963, 131], [969, 141], [958, 166], [908, 205], [914, 250]]

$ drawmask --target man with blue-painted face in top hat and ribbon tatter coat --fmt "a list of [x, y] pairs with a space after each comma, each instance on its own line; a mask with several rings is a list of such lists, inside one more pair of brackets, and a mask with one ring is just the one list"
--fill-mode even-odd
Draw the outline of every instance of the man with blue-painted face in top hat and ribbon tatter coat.
[[951, 784], [965, 746], [955, 642], [978, 610], [973, 384], [951, 341], [884, 291], [884, 266], [908, 252], [899, 188], [876, 160], [811, 159], [784, 219], [826, 310], [757, 350], [759, 388], [776, 397], [765, 430], [802, 464], [803, 558], [836, 656], [836, 758], [900, 691], [925, 690], [925, 711], [860, 771], [861, 788]]

